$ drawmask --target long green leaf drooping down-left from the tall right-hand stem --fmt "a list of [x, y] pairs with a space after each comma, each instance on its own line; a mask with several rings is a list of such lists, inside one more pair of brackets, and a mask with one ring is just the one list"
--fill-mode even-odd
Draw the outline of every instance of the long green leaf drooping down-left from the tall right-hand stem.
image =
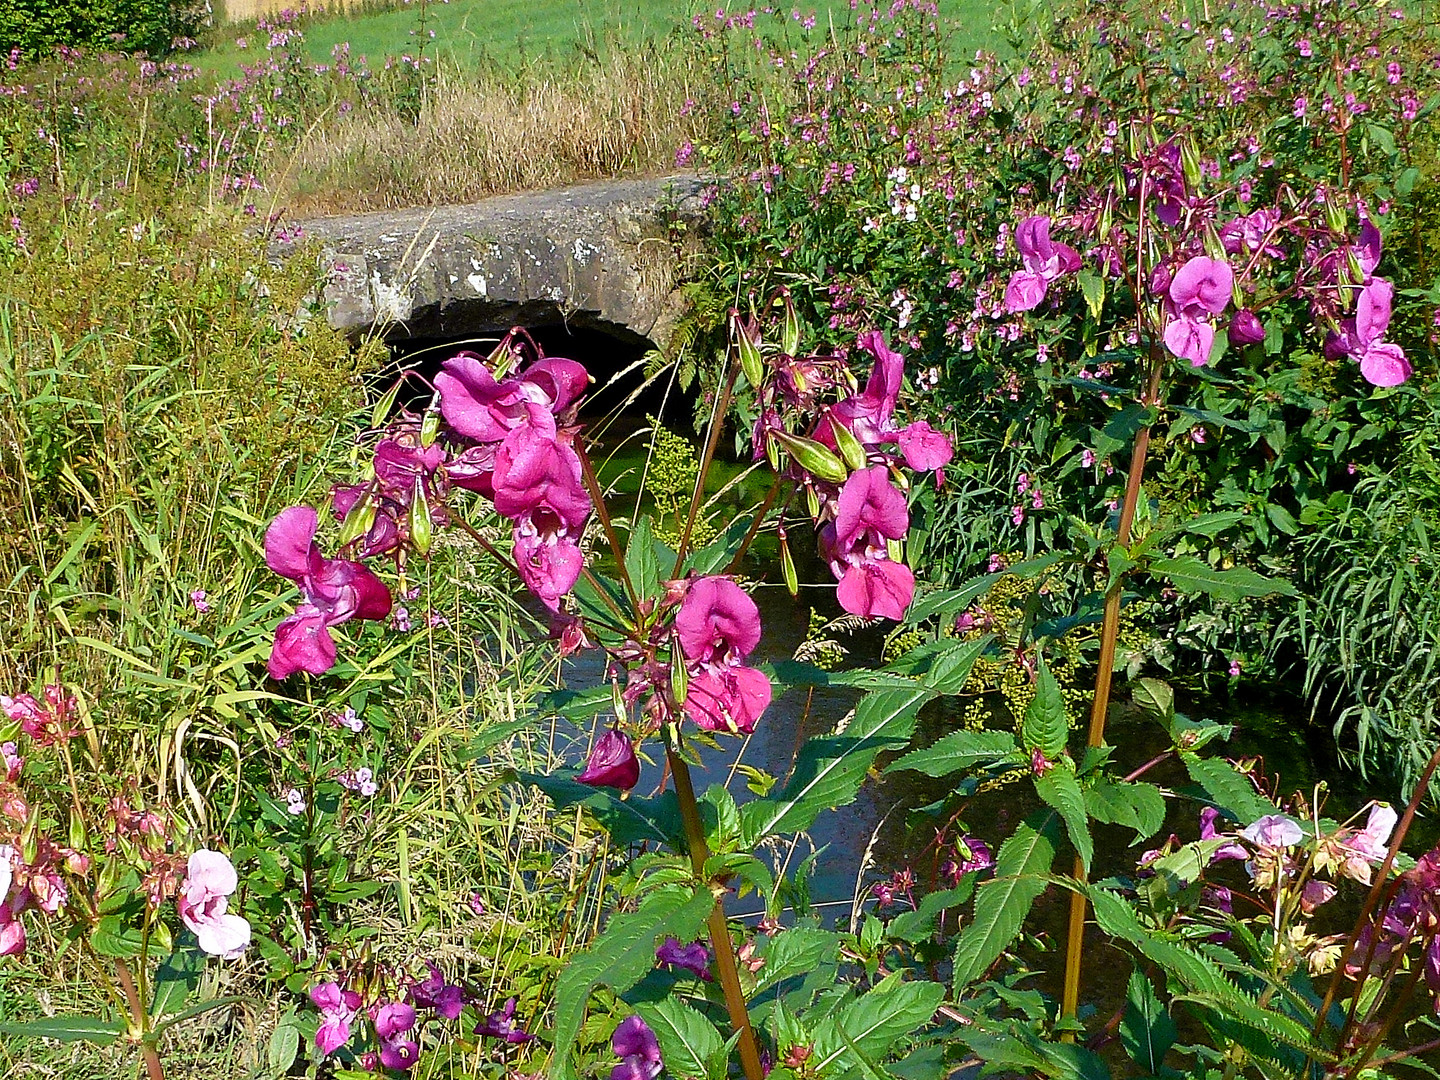
[[981, 978], [1015, 940], [1030, 907], [1045, 891], [1056, 861], [1060, 818], [1050, 811], [1031, 815], [1001, 844], [995, 877], [975, 893], [975, 913], [955, 946], [955, 989]]

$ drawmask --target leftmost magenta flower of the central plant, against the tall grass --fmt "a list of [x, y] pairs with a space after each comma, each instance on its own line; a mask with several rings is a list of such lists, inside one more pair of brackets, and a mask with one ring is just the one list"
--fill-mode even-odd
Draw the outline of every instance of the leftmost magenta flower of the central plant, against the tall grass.
[[271, 678], [297, 671], [323, 675], [336, 664], [330, 628], [350, 619], [383, 619], [390, 613], [390, 590], [360, 563], [325, 559], [315, 546], [318, 516], [312, 507], [282, 510], [265, 530], [265, 563], [300, 586], [295, 613], [275, 628]]

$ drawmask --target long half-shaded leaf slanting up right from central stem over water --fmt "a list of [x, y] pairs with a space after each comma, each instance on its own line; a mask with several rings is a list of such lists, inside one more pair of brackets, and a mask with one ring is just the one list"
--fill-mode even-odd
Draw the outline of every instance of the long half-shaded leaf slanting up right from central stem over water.
[[930, 697], [929, 690], [914, 684], [871, 691], [860, 698], [844, 733], [808, 739], [785, 789], [740, 808], [746, 845], [773, 832], [806, 829], [822, 809], [852, 802], [876, 755], [910, 742], [914, 717]]

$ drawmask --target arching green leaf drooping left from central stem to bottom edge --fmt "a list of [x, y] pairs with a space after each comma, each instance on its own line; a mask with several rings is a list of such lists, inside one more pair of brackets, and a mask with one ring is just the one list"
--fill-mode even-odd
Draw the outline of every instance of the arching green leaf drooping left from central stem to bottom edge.
[[595, 988], [609, 986], [616, 994], [628, 991], [655, 966], [658, 940], [671, 936], [693, 940], [714, 906], [708, 888], [651, 893], [639, 910], [612, 914], [605, 932], [585, 952], [570, 956], [556, 984], [553, 1053], [562, 1068], [569, 1066], [570, 1047]]

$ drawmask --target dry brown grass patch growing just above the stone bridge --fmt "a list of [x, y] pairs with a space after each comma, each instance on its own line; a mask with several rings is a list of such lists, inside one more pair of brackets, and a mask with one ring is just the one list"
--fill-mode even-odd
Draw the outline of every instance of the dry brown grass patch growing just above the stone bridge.
[[[697, 78], [698, 75], [698, 78]], [[580, 69], [441, 71], [418, 120], [360, 111], [323, 121], [279, 163], [292, 216], [465, 203], [580, 180], [670, 171], [700, 141], [704, 72], [684, 56], [612, 49]]]

